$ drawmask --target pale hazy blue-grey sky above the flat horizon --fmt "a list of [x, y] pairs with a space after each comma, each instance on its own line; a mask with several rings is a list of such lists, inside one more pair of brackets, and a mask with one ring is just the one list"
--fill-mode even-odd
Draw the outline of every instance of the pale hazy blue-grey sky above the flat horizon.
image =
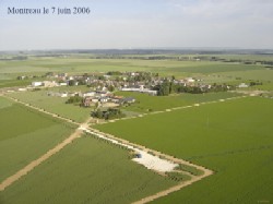
[[[8, 14], [8, 8], [90, 14]], [[0, 0], [0, 50], [273, 49], [273, 0]]]

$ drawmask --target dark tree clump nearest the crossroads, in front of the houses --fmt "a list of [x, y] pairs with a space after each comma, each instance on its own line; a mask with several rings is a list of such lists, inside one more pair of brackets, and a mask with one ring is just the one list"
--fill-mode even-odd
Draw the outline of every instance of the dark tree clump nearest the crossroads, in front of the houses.
[[93, 118], [99, 118], [105, 120], [111, 120], [117, 118], [124, 117], [124, 113], [120, 111], [120, 109], [117, 108], [108, 108], [105, 111], [102, 111], [100, 109], [97, 109], [91, 113]]

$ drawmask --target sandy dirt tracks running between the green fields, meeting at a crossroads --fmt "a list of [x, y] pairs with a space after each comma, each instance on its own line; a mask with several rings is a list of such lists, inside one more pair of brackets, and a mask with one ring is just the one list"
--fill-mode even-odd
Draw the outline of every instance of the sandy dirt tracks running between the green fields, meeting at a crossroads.
[[[78, 123], [78, 122], [74, 122], [70, 119], [67, 119], [67, 118], [63, 118], [63, 117], [60, 117], [56, 113], [52, 113], [52, 112], [49, 112], [49, 111], [46, 111], [45, 109], [41, 109], [41, 108], [38, 108], [38, 107], [35, 107], [35, 106], [32, 106], [31, 104], [27, 104], [27, 103], [24, 103], [24, 101], [21, 101], [16, 98], [13, 98], [13, 97], [10, 97], [10, 96], [7, 96], [7, 95], [3, 95], [3, 97], [8, 98], [8, 99], [11, 99], [15, 103], [19, 103], [19, 104], [22, 104], [26, 107], [29, 107], [32, 109], [35, 109], [39, 112], [44, 112], [44, 113], [47, 113], [54, 118], [58, 118], [58, 119], [61, 119], [61, 120], [64, 120], [67, 122], [70, 122], [70, 123], [73, 123], [73, 124], [76, 124], [79, 125], [79, 128], [76, 129], [76, 131], [74, 133], [72, 133], [68, 139], [66, 139], [63, 142], [61, 142], [60, 144], [58, 144], [57, 146], [55, 146], [54, 148], [51, 148], [50, 151], [48, 151], [46, 154], [44, 154], [41, 157], [39, 157], [38, 159], [32, 161], [31, 164], [28, 164], [27, 166], [25, 166], [23, 169], [19, 170], [15, 175], [9, 177], [8, 179], [5, 179], [1, 184], [0, 184], [0, 191], [3, 191], [5, 188], [8, 188], [9, 185], [11, 185], [13, 182], [15, 182], [16, 180], [19, 180], [21, 177], [27, 175], [29, 171], [32, 171], [35, 167], [37, 167], [38, 165], [40, 165], [43, 161], [47, 160], [48, 158], [50, 158], [52, 155], [55, 155], [56, 153], [60, 152], [64, 146], [67, 146], [68, 144], [70, 144], [73, 140], [78, 139], [78, 137], [81, 137], [82, 133], [83, 133], [83, 129], [81, 128], [85, 128], [87, 130], [90, 130], [91, 132], [93, 133], [99, 133], [106, 137], [110, 137], [112, 140], [117, 140], [117, 141], [121, 141], [123, 144], [128, 144], [128, 145], [133, 145], [133, 146], [136, 146], [138, 148], [142, 149], [142, 151], [145, 151], [145, 152], [152, 152], [153, 154], [155, 154], [156, 156], [163, 156], [165, 157], [166, 159], [173, 161], [173, 163], [176, 163], [176, 164], [185, 164], [185, 165], [190, 165], [190, 166], [193, 166], [193, 167], [197, 167], [199, 168], [200, 170], [202, 170], [204, 173], [202, 176], [191, 176], [191, 180], [189, 181], [183, 181], [183, 182], [180, 182], [178, 183], [177, 185], [174, 185], [167, 190], [164, 190], [164, 191], [161, 191], [161, 192], [157, 192], [153, 195], [150, 195], [150, 196], [146, 196], [146, 197], [143, 197], [141, 199], [140, 201], [136, 201], [136, 202], [133, 202], [133, 204], [144, 204], [144, 203], [149, 203], [149, 202], [152, 202], [156, 199], [159, 199], [162, 196], [166, 196], [168, 195], [169, 193], [173, 193], [173, 192], [176, 192], [176, 191], [179, 191], [180, 189], [185, 188], [185, 187], [188, 187], [197, 181], [200, 181], [201, 179], [205, 178], [205, 177], [209, 177], [211, 175], [213, 175], [214, 172], [203, 166], [198, 166], [195, 164], [192, 164], [192, 163], [189, 163], [187, 160], [183, 160], [183, 159], [180, 159], [180, 158], [175, 158], [170, 155], [167, 155], [167, 154], [164, 154], [164, 153], [161, 153], [161, 152], [157, 152], [157, 151], [154, 151], [154, 149], [151, 149], [151, 148], [147, 148], [145, 146], [142, 146], [142, 145], [139, 145], [139, 144], [134, 144], [134, 143], [131, 143], [129, 141], [126, 141], [123, 139], [120, 139], [118, 136], [114, 136], [112, 134], [108, 134], [108, 133], [104, 133], [104, 132], [100, 132], [98, 131], [97, 129], [94, 129], [94, 128], [90, 128], [88, 127], [88, 121], [91, 119], [88, 119], [86, 122], [84, 123]], [[213, 103], [219, 103], [219, 101], [225, 101], [225, 100], [228, 100], [228, 99], [238, 99], [238, 98], [242, 98], [242, 97], [246, 97], [246, 96], [241, 96], [241, 97], [232, 97], [232, 98], [225, 98], [225, 99], [218, 99], [218, 100], [213, 100], [213, 101], [207, 101], [207, 103], [202, 103], [201, 105], [205, 105], [205, 104], [213, 104]], [[170, 108], [170, 109], [166, 109], [166, 110], [163, 110], [163, 111], [156, 111], [156, 112], [152, 112], [152, 113], [143, 113], [141, 116], [138, 116], [138, 117], [132, 117], [132, 118], [126, 118], [126, 119], [121, 119], [121, 120], [127, 120], [127, 119], [133, 119], [133, 118], [139, 118], [139, 117], [144, 117], [144, 116], [147, 116], [147, 115], [155, 115], [155, 113], [163, 113], [163, 112], [169, 112], [169, 111], [175, 111], [175, 110], [178, 110], [178, 109], [185, 109], [185, 108], [191, 108], [191, 107], [197, 107], [197, 106], [200, 106], [200, 104], [194, 104], [194, 105], [191, 105], [191, 106], [183, 106], [183, 107], [176, 107], [176, 108]], [[116, 120], [115, 120], [116, 121]], [[161, 175], [159, 172], [157, 172], [158, 175]]]

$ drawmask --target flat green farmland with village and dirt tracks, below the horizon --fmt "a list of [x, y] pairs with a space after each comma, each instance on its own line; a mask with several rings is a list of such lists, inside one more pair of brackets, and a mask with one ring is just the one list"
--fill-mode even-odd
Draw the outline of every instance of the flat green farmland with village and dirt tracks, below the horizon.
[[1, 203], [273, 199], [271, 67], [26, 57], [0, 65]]

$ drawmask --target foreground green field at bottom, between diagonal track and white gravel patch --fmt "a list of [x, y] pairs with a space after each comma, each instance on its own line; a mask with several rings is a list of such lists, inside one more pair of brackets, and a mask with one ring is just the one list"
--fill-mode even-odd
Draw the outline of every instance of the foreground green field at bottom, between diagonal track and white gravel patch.
[[128, 156], [84, 135], [9, 187], [2, 203], [131, 203], [176, 184]]

